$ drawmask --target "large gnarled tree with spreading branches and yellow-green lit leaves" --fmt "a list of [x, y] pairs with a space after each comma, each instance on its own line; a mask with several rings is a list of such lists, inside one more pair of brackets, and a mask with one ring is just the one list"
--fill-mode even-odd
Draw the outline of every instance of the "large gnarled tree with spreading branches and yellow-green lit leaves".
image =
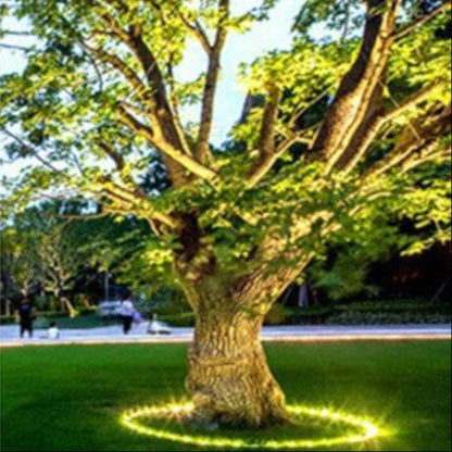
[[[449, 237], [450, 41], [435, 33], [450, 1], [306, 0], [293, 47], [243, 68], [243, 117], [215, 149], [227, 37], [247, 39], [275, 1], [241, 16], [229, 3], [5, 1], [37, 40], [2, 78], [0, 121], [10, 158], [29, 162], [15, 203], [78, 192], [149, 222], [142, 258], [171, 267], [197, 318], [196, 415], [262, 426], [286, 417], [263, 318], [324, 244], [365, 244], [401, 217], [435, 225], [414, 249]], [[205, 68], [180, 83], [194, 45]]]

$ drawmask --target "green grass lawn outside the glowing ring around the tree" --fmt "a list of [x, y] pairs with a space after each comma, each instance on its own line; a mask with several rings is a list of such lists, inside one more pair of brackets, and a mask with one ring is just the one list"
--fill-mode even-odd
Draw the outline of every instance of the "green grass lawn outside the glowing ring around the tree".
[[[272, 343], [266, 350], [289, 403], [368, 416], [391, 431], [353, 450], [451, 451], [450, 342]], [[128, 407], [185, 397], [186, 351], [181, 344], [2, 350], [1, 450], [198, 450], [118, 423]], [[292, 434], [286, 428], [284, 435]]]

